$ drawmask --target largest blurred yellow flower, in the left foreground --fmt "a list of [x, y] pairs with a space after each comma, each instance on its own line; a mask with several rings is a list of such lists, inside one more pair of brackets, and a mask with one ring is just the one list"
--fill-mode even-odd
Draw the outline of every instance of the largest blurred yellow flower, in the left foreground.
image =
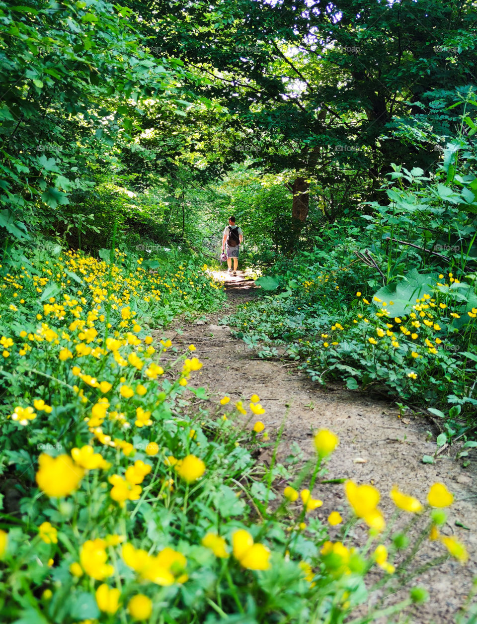
[[38, 458], [36, 482], [39, 489], [50, 497], [61, 497], [77, 489], [84, 477], [84, 469], [76, 466], [68, 455], [51, 457], [42, 453]]

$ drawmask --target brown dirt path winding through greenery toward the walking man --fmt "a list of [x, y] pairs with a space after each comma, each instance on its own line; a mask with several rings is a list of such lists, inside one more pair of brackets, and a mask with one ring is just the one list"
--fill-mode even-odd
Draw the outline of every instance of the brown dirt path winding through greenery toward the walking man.
[[[258, 294], [253, 281], [230, 276], [226, 280], [228, 303], [218, 314], [209, 314], [193, 324], [183, 324], [183, 334], [168, 332], [175, 337], [175, 344], [195, 344], [195, 354], [203, 362], [203, 369], [192, 382], [209, 390], [211, 404], [224, 394], [232, 399], [248, 402], [256, 392], [266, 413], [261, 416], [271, 439], [286, 418], [279, 461], [284, 461], [296, 443], [304, 454], [304, 460], [313, 454], [312, 431], [326, 427], [340, 437], [340, 446], [329, 462], [327, 479], [349, 477], [359, 483], [373, 483], [382, 492], [381, 507], [385, 517], [390, 518], [393, 504], [388, 497], [393, 484], [408, 494], [425, 501], [428, 487], [435, 481], [444, 482], [455, 495], [450, 508], [448, 523], [442, 528], [446, 535], [455, 535], [463, 541], [470, 553], [465, 566], [448, 560], [440, 568], [434, 568], [415, 578], [413, 585], [424, 585], [430, 590], [430, 600], [419, 607], [413, 622], [455, 622], [456, 611], [470, 591], [473, 574], [477, 567], [477, 451], [470, 450], [471, 464], [467, 469], [455, 460], [456, 451], [450, 456], [439, 456], [436, 464], [423, 464], [422, 456], [433, 454], [435, 443], [428, 441], [428, 431], [435, 440], [436, 431], [422, 417], [400, 418], [390, 402], [374, 396], [363, 396], [346, 389], [322, 389], [311, 383], [304, 374], [281, 362], [254, 359], [253, 351], [244, 343], [231, 337], [230, 328], [219, 326], [223, 316], [233, 312], [236, 305], [245, 303]], [[256, 419], [257, 420], [257, 419]], [[263, 452], [259, 461], [267, 461], [269, 452]], [[299, 464], [300, 466], [301, 464]], [[330, 511], [349, 514], [342, 484], [321, 484], [314, 491], [324, 501], [318, 510], [323, 522]], [[465, 530], [456, 522], [469, 527]], [[358, 527], [354, 537], [363, 543], [364, 528]], [[443, 553], [443, 545], [424, 542], [418, 552], [420, 565], [437, 553]], [[389, 598], [389, 603], [397, 598]], [[387, 604], [387, 603], [386, 603]], [[398, 621], [398, 618], [393, 621]]]

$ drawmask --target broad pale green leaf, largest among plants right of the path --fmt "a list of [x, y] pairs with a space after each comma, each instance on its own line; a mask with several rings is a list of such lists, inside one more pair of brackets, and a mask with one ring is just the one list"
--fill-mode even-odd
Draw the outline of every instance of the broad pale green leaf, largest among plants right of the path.
[[416, 269], [413, 269], [400, 282], [380, 288], [374, 298], [381, 301], [375, 301], [373, 298], [373, 303], [378, 308], [382, 308], [383, 303], [386, 303], [386, 309], [391, 316], [409, 314], [417, 299], [421, 299], [426, 293], [432, 294], [437, 279], [436, 273], [420, 274]]

